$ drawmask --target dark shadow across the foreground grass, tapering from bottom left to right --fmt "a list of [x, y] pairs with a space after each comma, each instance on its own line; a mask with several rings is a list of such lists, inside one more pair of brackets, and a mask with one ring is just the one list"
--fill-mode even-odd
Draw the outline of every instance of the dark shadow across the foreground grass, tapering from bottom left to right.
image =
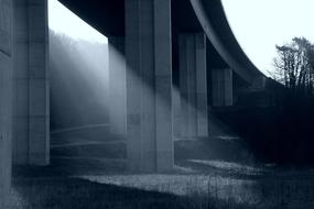
[[10, 209], [250, 209], [207, 196], [184, 197], [77, 178], [15, 179]]

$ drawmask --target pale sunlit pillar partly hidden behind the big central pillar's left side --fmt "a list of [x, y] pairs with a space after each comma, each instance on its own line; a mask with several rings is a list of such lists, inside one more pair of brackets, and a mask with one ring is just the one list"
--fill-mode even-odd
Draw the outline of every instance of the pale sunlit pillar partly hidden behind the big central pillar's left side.
[[127, 136], [127, 78], [124, 37], [108, 38], [109, 43], [109, 120], [111, 133]]

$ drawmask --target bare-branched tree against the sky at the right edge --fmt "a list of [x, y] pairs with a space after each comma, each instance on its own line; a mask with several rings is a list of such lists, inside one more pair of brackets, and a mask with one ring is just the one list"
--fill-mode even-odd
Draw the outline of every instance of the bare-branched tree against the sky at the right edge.
[[304, 37], [277, 45], [275, 79], [296, 94], [312, 95], [314, 87], [314, 45]]

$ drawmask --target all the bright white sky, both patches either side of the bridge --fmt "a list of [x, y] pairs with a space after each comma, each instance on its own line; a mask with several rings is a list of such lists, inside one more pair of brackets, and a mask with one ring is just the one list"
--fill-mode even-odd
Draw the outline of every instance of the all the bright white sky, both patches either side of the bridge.
[[[230, 26], [241, 47], [267, 74], [273, 68], [275, 44], [294, 36], [314, 42], [314, 0], [221, 0]], [[50, 28], [73, 38], [108, 43], [106, 36], [62, 6], [48, 0]]]

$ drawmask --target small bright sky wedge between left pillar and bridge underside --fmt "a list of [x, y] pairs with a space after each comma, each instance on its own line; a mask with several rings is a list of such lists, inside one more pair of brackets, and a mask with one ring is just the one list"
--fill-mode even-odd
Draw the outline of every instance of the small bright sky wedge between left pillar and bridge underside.
[[48, 25], [51, 30], [64, 33], [75, 40], [108, 43], [105, 35], [88, 25], [57, 0], [48, 0]]

